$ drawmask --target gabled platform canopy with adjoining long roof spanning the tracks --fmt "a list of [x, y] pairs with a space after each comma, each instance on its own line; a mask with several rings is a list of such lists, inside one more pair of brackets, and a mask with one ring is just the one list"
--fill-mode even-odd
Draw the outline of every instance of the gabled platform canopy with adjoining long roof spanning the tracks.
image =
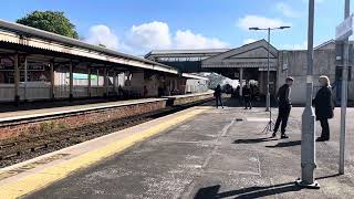
[[[260, 40], [236, 49], [152, 51], [145, 56], [184, 72], [215, 72], [238, 80], [242, 87], [252, 82], [267, 94], [268, 42]], [[270, 45], [270, 92], [277, 88], [278, 50]], [[242, 90], [240, 90], [240, 94]]]

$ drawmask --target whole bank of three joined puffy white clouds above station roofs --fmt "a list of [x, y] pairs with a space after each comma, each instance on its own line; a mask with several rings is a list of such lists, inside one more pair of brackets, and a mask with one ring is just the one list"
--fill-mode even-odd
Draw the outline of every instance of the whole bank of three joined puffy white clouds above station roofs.
[[121, 40], [108, 27], [104, 24], [93, 25], [90, 28], [85, 41], [139, 55], [152, 50], [220, 49], [229, 46], [228, 43], [217, 38], [207, 38], [190, 30], [178, 30], [171, 33], [168, 24], [159, 21], [133, 25]]

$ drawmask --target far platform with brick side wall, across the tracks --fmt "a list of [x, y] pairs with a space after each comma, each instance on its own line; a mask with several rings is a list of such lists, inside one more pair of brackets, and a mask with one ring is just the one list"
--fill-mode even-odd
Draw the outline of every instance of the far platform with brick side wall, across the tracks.
[[[113, 119], [157, 112], [167, 107], [184, 106], [212, 98], [211, 92], [168, 96], [159, 98], [142, 98], [104, 103], [63, 105], [61, 107], [8, 111], [0, 113], [0, 142], [51, 130], [72, 129], [91, 124], [100, 124]], [[58, 104], [53, 104], [55, 106]], [[55, 128], [55, 129], [53, 129]]]

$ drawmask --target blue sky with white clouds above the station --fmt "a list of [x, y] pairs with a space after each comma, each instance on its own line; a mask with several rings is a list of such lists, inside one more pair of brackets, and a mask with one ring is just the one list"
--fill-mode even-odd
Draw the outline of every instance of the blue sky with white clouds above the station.
[[[150, 50], [237, 48], [266, 39], [249, 27], [290, 25], [271, 33], [282, 50], [306, 49], [308, 0], [2, 0], [0, 19], [63, 11], [81, 40], [144, 55]], [[351, 10], [354, 9], [352, 3]], [[315, 0], [314, 44], [335, 35], [344, 0]]]

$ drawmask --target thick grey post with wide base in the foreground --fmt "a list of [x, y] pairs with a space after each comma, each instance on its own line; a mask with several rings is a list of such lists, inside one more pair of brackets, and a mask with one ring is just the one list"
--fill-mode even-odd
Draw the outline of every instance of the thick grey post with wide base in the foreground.
[[320, 188], [314, 179], [315, 163], [315, 115], [312, 108], [313, 95], [313, 23], [314, 0], [309, 0], [309, 29], [308, 29], [308, 75], [306, 75], [306, 106], [302, 114], [301, 134], [301, 179], [296, 185], [305, 188]]

